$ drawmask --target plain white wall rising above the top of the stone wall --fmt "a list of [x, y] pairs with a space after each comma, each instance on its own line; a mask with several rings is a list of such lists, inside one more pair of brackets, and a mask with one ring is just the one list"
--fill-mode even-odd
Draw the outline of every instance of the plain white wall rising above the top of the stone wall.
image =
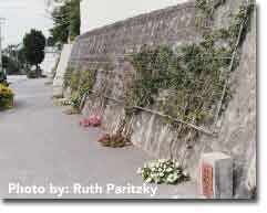
[[82, 0], [81, 33], [186, 0]]

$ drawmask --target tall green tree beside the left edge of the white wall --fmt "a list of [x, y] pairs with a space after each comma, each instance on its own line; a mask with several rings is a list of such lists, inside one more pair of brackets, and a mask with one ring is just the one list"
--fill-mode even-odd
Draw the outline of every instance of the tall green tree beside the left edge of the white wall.
[[80, 1], [62, 1], [62, 4], [53, 10], [54, 28], [50, 29], [50, 32], [55, 42], [66, 43], [69, 38], [73, 41], [80, 35]]

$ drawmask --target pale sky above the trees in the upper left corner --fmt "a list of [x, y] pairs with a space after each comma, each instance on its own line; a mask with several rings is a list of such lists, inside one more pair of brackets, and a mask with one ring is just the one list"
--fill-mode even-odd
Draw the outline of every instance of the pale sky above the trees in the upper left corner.
[[45, 9], [45, 0], [0, 0], [0, 18], [6, 19], [2, 24], [3, 47], [21, 43], [32, 28], [48, 36], [53, 23]]

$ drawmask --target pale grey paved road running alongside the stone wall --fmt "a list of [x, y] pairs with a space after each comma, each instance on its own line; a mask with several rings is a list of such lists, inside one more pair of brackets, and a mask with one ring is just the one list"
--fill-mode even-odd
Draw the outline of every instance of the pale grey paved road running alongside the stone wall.
[[[109, 183], [115, 187], [124, 187], [127, 183], [141, 187], [143, 182], [135, 171], [151, 158], [134, 147], [124, 149], [100, 147], [96, 140], [102, 134], [101, 130], [82, 129], [78, 126], [81, 116], [63, 115], [62, 108], [53, 105], [52, 89], [45, 86], [44, 82], [45, 79], [13, 78], [11, 86], [16, 92], [16, 107], [0, 113], [1, 198], [168, 199], [174, 195], [177, 198], [195, 196], [194, 193], [191, 194], [194, 192], [191, 183], [182, 187], [161, 185], [153, 198], [151, 193], [132, 194], [132, 191], [127, 192], [127, 190], [124, 194], [121, 192], [115, 194], [111, 189], [107, 194], [105, 190]], [[13, 185], [12, 193], [8, 193], [9, 183], [20, 185]], [[50, 183], [54, 187], [65, 187], [65, 194], [63, 196], [51, 194]], [[93, 191], [85, 192], [85, 194], [80, 194], [81, 190], [78, 189], [74, 193], [74, 183], [83, 187], [97, 183], [102, 188], [102, 193], [95, 188], [91, 188]], [[39, 194], [28, 194], [27, 190], [34, 193], [32, 185], [44, 187], [45, 192], [40, 188]], [[21, 192], [23, 194], [20, 194]]]

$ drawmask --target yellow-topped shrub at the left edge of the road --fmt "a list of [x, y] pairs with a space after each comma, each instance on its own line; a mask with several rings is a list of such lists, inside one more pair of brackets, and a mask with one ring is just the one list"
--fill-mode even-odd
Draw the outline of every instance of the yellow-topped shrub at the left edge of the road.
[[11, 88], [0, 84], [0, 110], [12, 108], [13, 92]]

